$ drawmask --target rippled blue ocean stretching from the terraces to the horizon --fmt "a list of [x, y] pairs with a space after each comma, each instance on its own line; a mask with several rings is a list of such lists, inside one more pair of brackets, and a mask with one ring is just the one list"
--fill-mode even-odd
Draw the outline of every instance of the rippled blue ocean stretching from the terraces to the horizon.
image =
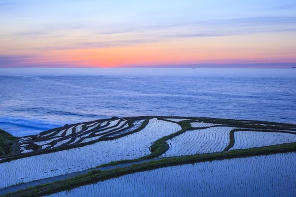
[[289, 68], [0, 68], [0, 129], [140, 115], [296, 124], [295, 88]]

